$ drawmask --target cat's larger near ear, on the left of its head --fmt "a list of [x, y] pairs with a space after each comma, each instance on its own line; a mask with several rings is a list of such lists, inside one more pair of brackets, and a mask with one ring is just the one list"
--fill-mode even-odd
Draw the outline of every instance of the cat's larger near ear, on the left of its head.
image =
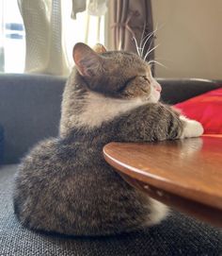
[[102, 69], [102, 58], [85, 43], [76, 43], [72, 57], [81, 76], [95, 76]]

